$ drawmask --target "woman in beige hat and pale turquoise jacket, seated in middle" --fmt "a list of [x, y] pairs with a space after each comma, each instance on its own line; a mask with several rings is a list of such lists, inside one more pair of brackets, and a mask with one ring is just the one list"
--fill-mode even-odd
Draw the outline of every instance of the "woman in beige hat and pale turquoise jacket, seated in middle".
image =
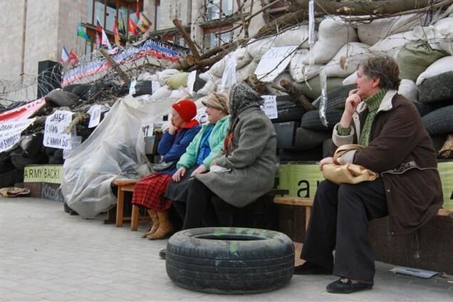
[[[211, 162], [222, 149], [222, 143], [229, 129], [228, 95], [226, 93], [210, 93], [202, 101], [206, 106], [208, 116], [207, 125], [190, 142], [186, 152], [177, 162], [177, 171], [172, 175], [172, 180], [167, 187], [165, 200], [166, 207], [170, 207], [170, 200], [175, 203], [184, 203], [187, 199], [189, 179], [200, 173], [209, 171]], [[161, 207], [160, 204], [157, 204]], [[184, 207], [183, 207], [184, 208]], [[152, 208], [158, 211], [158, 208]], [[180, 211], [177, 208], [178, 212]], [[179, 212], [183, 216], [181, 212]], [[182, 217], [184, 218], [184, 217]], [[155, 233], [147, 235], [147, 239], [162, 239], [173, 230], [170, 222], [160, 227]]]

